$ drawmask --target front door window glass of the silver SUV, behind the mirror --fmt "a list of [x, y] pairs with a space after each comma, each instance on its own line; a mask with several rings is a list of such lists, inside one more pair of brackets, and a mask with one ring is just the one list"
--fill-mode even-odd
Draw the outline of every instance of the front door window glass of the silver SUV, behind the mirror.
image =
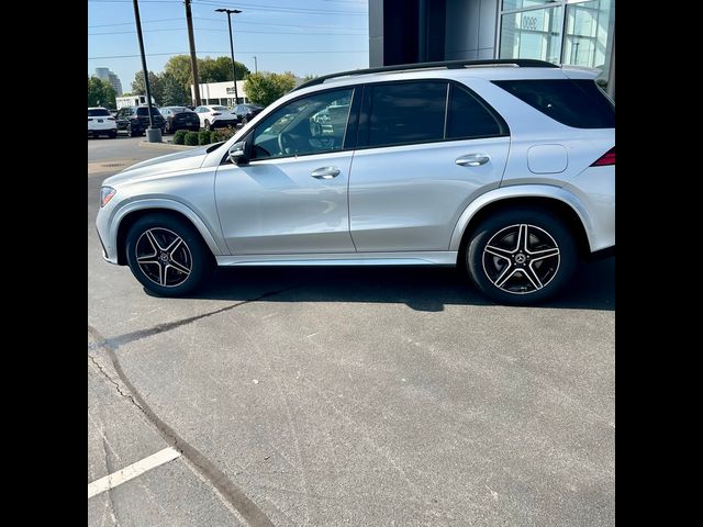
[[315, 93], [276, 110], [254, 132], [253, 159], [342, 149], [354, 89]]

